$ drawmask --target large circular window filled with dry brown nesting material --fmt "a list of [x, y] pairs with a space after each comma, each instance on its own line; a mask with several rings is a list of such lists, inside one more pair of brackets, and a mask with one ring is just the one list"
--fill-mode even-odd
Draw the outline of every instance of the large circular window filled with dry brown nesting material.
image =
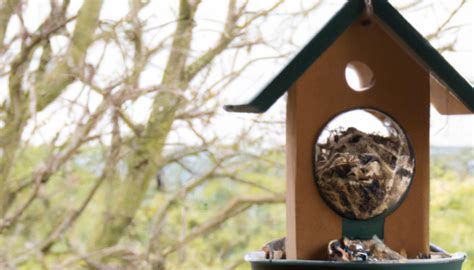
[[377, 110], [337, 115], [316, 141], [314, 173], [319, 193], [345, 218], [366, 220], [395, 210], [414, 169], [407, 136], [391, 117]]

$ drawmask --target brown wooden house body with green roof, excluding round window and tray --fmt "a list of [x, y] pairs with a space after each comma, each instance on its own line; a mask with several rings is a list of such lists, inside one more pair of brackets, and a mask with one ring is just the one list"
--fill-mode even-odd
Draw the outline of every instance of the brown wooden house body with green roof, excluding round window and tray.
[[[373, 76], [366, 91], [347, 84], [345, 68], [354, 61], [371, 69], [371, 74], [359, 74]], [[350, 0], [254, 99], [225, 109], [262, 113], [285, 92], [287, 258], [325, 259], [328, 242], [354, 228], [381, 228], [385, 243], [406, 250], [410, 258], [428, 253], [430, 104], [442, 114], [472, 114], [470, 83], [387, 1]], [[416, 160], [403, 203], [390, 215], [366, 221], [347, 220], [332, 211], [313, 174], [317, 135], [331, 118], [357, 108], [373, 108], [395, 119]]]

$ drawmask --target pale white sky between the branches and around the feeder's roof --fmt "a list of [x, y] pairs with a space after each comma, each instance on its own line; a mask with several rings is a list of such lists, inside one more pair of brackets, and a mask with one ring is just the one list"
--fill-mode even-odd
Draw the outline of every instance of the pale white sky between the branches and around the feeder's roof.
[[[26, 24], [31, 29], [34, 29], [41, 23], [42, 20], [47, 16], [49, 12], [48, 7], [49, 0], [30, 0], [28, 9], [26, 10]], [[81, 6], [80, 0], [72, 1], [70, 10], [74, 12]], [[154, 20], [153, 22], [157, 25], [172, 21], [176, 16], [177, 3], [178, 1], [152, 1], [149, 7], [147, 7], [141, 16]], [[273, 2], [273, 1], [271, 1]], [[291, 0], [286, 1], [282, 8], [277, 10], [275, 18], [270, 18], [264, 24], [260, 25], [257, 29], [262, 33], [270, 36], [276, 36], [275, 40], [278, 39], [278, 35], [285, 35], [290, 33], [292, 35], [291, 45], [281, 45], [283, 51], [297, 52], [298, 48], [301, 48], [321, 27], [331, 18], [331, 16], [338, 10], [338, 8], [344, 3], [342, 0], [324, 0], [323, 4], [314, 12], [310, 13], [304, 20], [301, 20], [295, 24], [294, 22], [286, 23], [282, 22], [278, 14], [289, 13], [291, 11], [297, 11], [301, 7], [307, 7], [314, 3], [312, 0]], [[411, 2], [408, 0], [393, 0], [390, 1], [395, 7], [402, 7], [405, 4]], [[422, 34], [427, 35], [436, 30], [436, 28], [449, 16], [450, 12], [457, 7], [460, 1], [457, 0], [424, 0], [416, 9], [409, 9], [402, 11], [402, 15]], [[457, 33], [457, 44], [455, 52], [444, 53], [443, 56], [467, 79], [474, 82], [474, 0], [467, 0], [466, 6], [458, 13], [452, 20], [451, 25], [462, 26], [459, 33]], [[259, 10], [262, 7], [268, 7], [269, 1], [251, 1], [251, 9]], [[209, 47], [209, 40], [216, 40], [218, 33], [222, 28], [222, 23], [225, 20], [227, 9], [227, 1], [222, 0], [203, 0], [197, 20], [199, 21], [196, 38], [193, 41], [193, 48], [196, 51], [204, 51]], [[119, 20], [128, 11], [128, 0], [105, 0], [104, 7], [101, 13], [101, 19], [103, 20]], [[74, 24], [68, 25], [69, 28], [74, 27]], [[10, 26], [10, 32], [14, 32], [14, 24]], [[157, 35], [167, 35], [174, 29], [173, 24], [169, 27], [164, 27]], [[8, 33], [7, 33], [8, 34]], [[252, 34], [252, 33], [251, 33]], [[255, 34], [255, 33], [253, 33]], [[433, 45], [442, 46], [446, 42], [449, 42], [454, 32], [448, 32], [444, 38], [435, 40]], [[154, 39], [159, 38], [157, 36], [147, 37], [146, 42], [153, 42]], [[67, 44], [65, 38], [56, 38], [52, 42], [53, 49], [61, 50]], [[99, 45], [97, 45], [99, 46]], [[104, 73], [107, 78], [113, 77], [114, 74], [120, 75], [123, 72], [123, 68], [127, 63], [121, 62], [117, 53], [118, 48], [113, 46], [109, 48], [110, 53], [106, 55], [104, 60], [105, 70]], [[97, 58], [98, 50], [92, 49], [88, 53], [88, 59], [92, 61]], [[272, 55], [272, 52], [268, 48], [256, 48], [252, 51], [253, 55], [266, 56]], [[153, 59], [152, 65], [156, 65], [158, 68], [150, 68], [142, 76], [141, 83], [144, 85], [153, 85], [159, 81], [160, 73], [159, 66], [166, 61], [166, 51], [159, 54]], [[224, 58], [225, 59], [225, 58]], [[88, 60], [88, 61], [89, 61]], [[285, 65], [285, 60], [275, 61], [261, 61], [255, 64], [252, 68], [244, 72], [238, 80], [236, 80], [229, 87], [224, 89], [220, 101], [223, 104], [238, 104], [245, 102], [252, 96], [254, 96], [266, 82], [268, 82], [277, 72]], [[220, 63], [225, 67], [225, 63]], [[219, 76], [216, 72], [213, 76]], [[104, 77], [105, 79], [105, 77]], [[5, 80], [0, 80], [0, 87], [6, 86]], [[68, 90], [67, 95], [77, 92], [80, 88], [78, 85], [73, 85]], [[2, 91], [5, 93], [4, 91]], [[2, 99], [0, 94], [0, 100]], [[5, 98], [5, 97], [3, 97]], [[98, 99], [92, 99], [91, 106], [98, 104]], [[151, 99], [145, 97], [138, 100], [137, 106], [130, 112], [132, 118], [137, 122], [143, 121], [144, 116], [149, 112]], [[59, 105], [58, 105], [59, 106]], [[53, 130], [61, 127], [65, 122], [74, 122], [73, 119], [77, 117], [74, 112], [68, 112], [67, 114], [54, 113], [54, 106], [46, 111], [44, 114], [39, 116], [38, 121], [47, 122], [45, 128], [43, 128], [37, 135], [32, 138], [33, 143], [41, 143], [45, 138], [53, 136]], [[285, 100], [281, 98], [264, 116], [263, 119], [276, 120], [278, 122], [284, 121], [285, 115]], [[222, 137], [231, 137], [232, 134], [237, 133], [242, 127], [246, 126], [249, 121], [255, 120], [259, 116], [245, 115], [245, 114], [231, 114], [220, 110], [219, 117], [215, 119], [213, 125], [214, 129], [222, 133]], [[431, 110], [431, 138], [430, 142], [432, 145], [442, 146], [469, 146], [474, 149], [474, 116], [442, 116], [435, 110]], [[30, 127], [30, 131], [32, 126]], [[256, 131], [258, 133], [258, 130]], [[275, 133], [268, 135], [268, 140], [275, 141], [277, 143], [284, 142], [284, 126], [278, 125], [275, 128]], [[171, 134], [169, 141], [191, 141], [192, 138], [184, 133]]]

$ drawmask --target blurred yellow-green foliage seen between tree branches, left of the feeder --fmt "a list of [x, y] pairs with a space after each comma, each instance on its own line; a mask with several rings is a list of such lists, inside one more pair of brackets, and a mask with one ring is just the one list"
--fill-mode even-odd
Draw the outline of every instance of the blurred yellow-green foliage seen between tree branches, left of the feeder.
[[[30, 147], [25, 150], [19, 162], [15, 163], [13, 177], [21, 177], [37, 166], [47, 153], [47, 146]], [[103, 151], [99, 147], [84, 148], [75, 159], [64, 166], [55, 175], [49, 185], [40, 193], [18, 225], [6, 231], [0, 238], [0, 254], [10, 258], [20, 256], [33, 244], [40, 242], [55, 228], [71, 211], [77, 207], [90, 190], [97, 172], [104, 165]], [[242, 179], [267, 186], [273, 192], [282, 193], [284, 181], [284, 155], [279, 151], [270, 151], [262, 156], [266, 162], [252, 162], [239, 168]], [[272, 165], [269, 165], [271, 161]], [[205, 155], [188, 160], [188, 165], [197, 172], [205, 171], [208, 166]], [[234, 160], [227, 164], [245, 164], [245, 160]], [[170, 164], [163, 171], [165, 190], [158, 190], [150, 185], [139, 211], [126, 234], [119, 243], [127, 246], [135, 254], [144, 254], [145, 247], [150, 241], [150, 225], [153, 215], [163, 202], [180, 189], [189, 179], [189, 172]], [[80, 179], [80, 181], [79, 181]], [[18, 181], [21, 183], [21, 181]], [[110, 184], [110, 183], [109, 183]], [[167, 247], [175, 244], [187, 235], [194, 227], [205, 223], [233, 197], [238, 194], [258, 195], [262, 190], [251, 185], [243, 185], [228, 177], [216, 178], [197, 188], [179, 199], [169, 210], [160, 239], [160, 246]], [[20, 193], [19, 196], [28, 194]], [[70, 232], [56, 241], [54, 245], [41, 256], [30, 256], [26, 261], [17, 264], [18, 269], [89, 269], [86, 262], [77, 260], [74, 250], [85, 250], [100, 224], [98, 215], [103, 209], [111, 207], [107, 189], [101, 190], [89, 203], [85, 212], [73, 225]], [[23, 199], [23, 198], [22, 198]], [[252, 206], [249, 210], [221, 224], [217, 230], [199, 236], [184, 248], [172, 253], [166, 259], [166, 269], [231, 269], [246, 267], [243, 256], [249, 250], [259, 249], [263, 243], [276, 239], [285, 232], [284, 204], [264, 204]], [[83, 253], [84, 251], [82, 251]], [[124, 258], [125, 257], [125, 258]], [[65, 263], [77, 260], [65, 266]], [[126, 256], [113, 256], [108, 259], [112, 269], [123, 265]], [[134, 264], [140, 268], [140, 264]], [[56, 269], [56, 268], [53, 268]], [[148, 268], [146, 268], [148, 269]]]

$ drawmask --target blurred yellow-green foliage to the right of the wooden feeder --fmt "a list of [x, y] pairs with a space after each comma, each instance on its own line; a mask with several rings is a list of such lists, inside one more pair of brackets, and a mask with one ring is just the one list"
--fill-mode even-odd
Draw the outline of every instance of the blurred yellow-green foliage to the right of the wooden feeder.
[[463, 269], [474, 269], [474, 172], [468, 167], [474, 150], [446, 148], [431, 159], [431, 242], [467, 253]]

